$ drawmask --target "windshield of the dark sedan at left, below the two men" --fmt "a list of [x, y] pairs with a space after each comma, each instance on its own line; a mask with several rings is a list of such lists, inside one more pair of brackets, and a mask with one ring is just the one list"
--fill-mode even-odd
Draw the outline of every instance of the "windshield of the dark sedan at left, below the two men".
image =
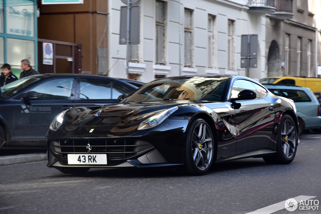
[[33, 76], [17, 79], [14, 82], [6, 84], [1, 87], [2, 97], [4, 98], [11, 97], [12, 95], [20, 92], [23, 88], [28, 87], [33, 82], [38, 81], [39, 79], [40, 77], [38, 75], [33, 75]]

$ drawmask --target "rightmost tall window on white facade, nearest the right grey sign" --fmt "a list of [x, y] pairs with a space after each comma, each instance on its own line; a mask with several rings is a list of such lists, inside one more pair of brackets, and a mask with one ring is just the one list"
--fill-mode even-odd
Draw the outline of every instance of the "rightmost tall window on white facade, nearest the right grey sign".
[[227, 68], [229, 70], [234, 70], [234, 60], [235, 60], [235, 21], [229, 19], [228, 29], [227, 29]]

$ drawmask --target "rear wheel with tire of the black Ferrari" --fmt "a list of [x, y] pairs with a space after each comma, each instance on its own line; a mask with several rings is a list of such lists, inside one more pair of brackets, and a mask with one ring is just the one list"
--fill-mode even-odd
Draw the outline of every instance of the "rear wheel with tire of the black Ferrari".
[[298, 135], [290, 115], [283, 115], [277, 136], [276, 154], [263, 157], [266, 163], [289, 164], [293, 161], [298, 147]]

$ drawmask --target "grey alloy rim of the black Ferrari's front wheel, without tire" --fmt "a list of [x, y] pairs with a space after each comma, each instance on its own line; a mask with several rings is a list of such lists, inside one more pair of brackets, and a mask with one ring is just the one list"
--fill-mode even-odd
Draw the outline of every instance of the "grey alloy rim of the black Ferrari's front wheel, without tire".
[[206, 170], [213, 158], [213, 137], [209, 127], [201, 122], [193, 131], [192, 154], [196, 167]]

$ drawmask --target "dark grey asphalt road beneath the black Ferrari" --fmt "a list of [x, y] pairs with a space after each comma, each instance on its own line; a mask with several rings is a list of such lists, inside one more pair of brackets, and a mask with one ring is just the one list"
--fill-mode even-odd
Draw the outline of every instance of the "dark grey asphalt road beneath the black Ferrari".
[[[273, 207], [297, 196], [321, 201], [320, 153], [321, 135], [306, 134], [291, 164], [250, 158], [215, 164], [204, 176], [139, 169], [76, 176], [46, 161], [0, 166], [0, 213], [288, 213]], [[294, 213], [321, 213], [319, 206]]]

